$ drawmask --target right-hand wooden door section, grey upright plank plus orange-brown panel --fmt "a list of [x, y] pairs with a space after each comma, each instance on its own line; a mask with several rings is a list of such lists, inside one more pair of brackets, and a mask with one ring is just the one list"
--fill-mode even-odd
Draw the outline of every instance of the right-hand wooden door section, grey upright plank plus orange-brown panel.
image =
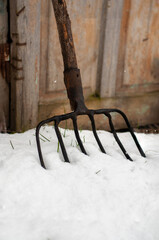
[[159, 122], [158, 41], [158, 0], [110, 1], [100, 94], [135, 126]]

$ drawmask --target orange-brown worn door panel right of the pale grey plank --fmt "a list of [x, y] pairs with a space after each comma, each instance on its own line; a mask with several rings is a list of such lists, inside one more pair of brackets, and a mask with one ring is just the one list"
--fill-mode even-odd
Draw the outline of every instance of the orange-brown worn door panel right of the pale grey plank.
[[117, 94], [159, 90], [159, 1], [126, 0], [121, 24]]

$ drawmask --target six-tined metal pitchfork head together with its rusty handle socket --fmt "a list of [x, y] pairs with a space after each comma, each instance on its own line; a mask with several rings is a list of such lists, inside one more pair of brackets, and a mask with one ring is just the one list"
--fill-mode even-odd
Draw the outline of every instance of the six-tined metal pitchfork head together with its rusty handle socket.
[[145, 153], [143, 152], [143, 150], [142, 150], [142, 148], [141, 148], [141, 146], [140, 146], [140, 144], [139, 144], [139, 142], [138, 142], [138, 140], [137, 140], [137, 138], [136, 138], [136, 136], [133, 132], [133, 129], [132, 129], [132, 127], [131, 127], [131, 125], [128, 121], [128, 118], [126, 117], [126, 115], [121, 110], [119, 110], [119, 109], [92, 110], [92, 109], [88, 109], [85, 106], [84, 97], [83, 97], [83, 90], [82, 90], [82, 83], [81, 83], [81, 76], [80, 76], [80, 70], [79, 69], [70, 68], [70, 69], [65, 70], [64, 71], [64, 82], [65, 82], [65, 85], [66, 85], [67, 95], [68, 95], [68, 98], [70, 100], [71, 108], [74, 111], [70, 112], [70, 113], [67, 113], [67, 114], [63, 114], [63, 115], [48, 118], [48, 119], [46, 119], [46, 120], [44, 120], [44, 121], [42, 121], [38, 124], [38, 126], [36, 128], [36, 141], [37, 141], [37, 148], [38, 148], [39, 158], [40, 158], [40, 162], [41, 162], [42, 167], [45, 168], [45, 164], [44, 164], [43, 155], [42, 155], [42, 151], [41, 151], [39, 131], [40, 131], [41, 126], [43, 126], [44, 124], [54, 122], [55, 132], [56, 132], [59, 144], [61, 146], [61, 150], [62, 150], [62, 153], [63, 153], [64, 160], [65, 160], [65, 162], [69, 162], [69, 158], [68, 158], [68, 155], [67, 155], [64, 143], [63, 143], [63, 139], [62, 139], [61, 133], [59, 131], [59, 124], [62, 121], [71, 119], [72, 123], [73, 123], [74, 133], [75, 133], [77, 142], [80, 146], [80, 149], [84, 154], [87, 154], [86, 150], [83, 146], [83, 143], [80, 139], [79, 132], [78, 132], [77, 117], [79, 115], [87, 115], [89, 117], [90, 122], [91, 122], [91, 126], [92, 126], [92, 131], [93, 131], [94, 137], [97, 141], [97, 144], [98, 144], [100, 150], [103, 153], [106, 153], [106, 151], [105, 151], [105, 149], [104, 149], [104, 147], [103, 147], [103, 145], [102, 145], [102, 143], [101, 143], [101, 141], [98, 137], [98, 134], [97, 134], [97, 131], [96, 131], [96, 126], [95, 126], [95, 120], [94, 120], [95, 115], [99, 115], [99, 114], [105, 115], [108, 118], [108, 122], [109, 122], [111, 132], [113, 133], [113, 136], [114, 136], [116, 142], [118, 143], [120, 149], [122, 150], [125, 157], [128, 160], [132, 161], [131, 157], [129, 156], [129, 154], [125, 150], [123, 144], [121, 143], [121, 141], [120, 141], [120, 139], [119, 139], [119, 137], [116, 133], [113, 121], [112, 121], [111, 113], [115, 112], [115, 113], [120, 114], [122, 116], [122, 118], [124, 119], [124, 121], [127, 125], [127, 128], [128, 128], [128, 131], [130, 132], [130, 134], [131, 134], [131, 136], [132, 136], [132, 138], [133, 138], [141, 156], [145, 157]]

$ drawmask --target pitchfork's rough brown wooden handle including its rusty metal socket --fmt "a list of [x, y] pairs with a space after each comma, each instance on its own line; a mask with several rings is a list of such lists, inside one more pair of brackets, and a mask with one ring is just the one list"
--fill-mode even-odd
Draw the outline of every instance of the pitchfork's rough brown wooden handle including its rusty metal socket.
[[65, 0], [52, 0], [64, 62], [64, 82], [72, 110], [85, 111], [80, 70], [77, 66], [71, 21]]

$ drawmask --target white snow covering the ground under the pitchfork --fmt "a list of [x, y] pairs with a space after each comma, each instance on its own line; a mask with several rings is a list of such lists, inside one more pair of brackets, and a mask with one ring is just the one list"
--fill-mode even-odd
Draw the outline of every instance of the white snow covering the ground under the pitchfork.
[[[158, 240], [159, 134], [137, 134], [146, 158], [129, 133], [61, 129], [71, 163], [63, 162], [53, 127], [41, 131], [47, 170], [40, 166], [35, 129], [0, 134], [0, 240]], [[44, 137], [46, 138], [44, 138]]]

